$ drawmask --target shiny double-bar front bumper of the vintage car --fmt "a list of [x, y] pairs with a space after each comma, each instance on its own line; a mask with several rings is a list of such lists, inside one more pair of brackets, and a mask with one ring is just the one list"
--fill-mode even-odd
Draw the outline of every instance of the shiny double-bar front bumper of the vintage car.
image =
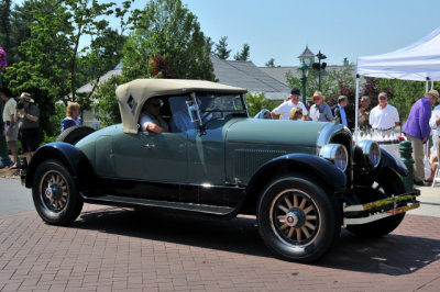
[[394, 216], [420, 206], [419, 190], [358, 205], [343, 206], [343, 225], [359, 225]]

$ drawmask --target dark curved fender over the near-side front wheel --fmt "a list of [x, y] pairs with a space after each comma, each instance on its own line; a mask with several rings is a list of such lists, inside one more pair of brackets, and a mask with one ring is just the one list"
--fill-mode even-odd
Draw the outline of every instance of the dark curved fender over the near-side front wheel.
[[255, 182], [282, 166], [294, 167], [295, 170], [317, 177], [337, 192], [345, 191], [345, 173], [329, 160], [309, 154], [288, 154], [267, 161], [252, 176], [248, 186], [252, 188]]

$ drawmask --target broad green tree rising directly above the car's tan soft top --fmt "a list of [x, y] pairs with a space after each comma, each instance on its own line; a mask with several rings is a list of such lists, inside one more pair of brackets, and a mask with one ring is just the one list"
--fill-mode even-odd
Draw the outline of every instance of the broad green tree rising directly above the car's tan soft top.
[[168, 76], [213, 80], [213, 67], [197, 16], [180, 0], [153, 0], [135, 12], [122, 58], [122, 70], [130, 79], [153, 77], [151, 61], [166, 59]]

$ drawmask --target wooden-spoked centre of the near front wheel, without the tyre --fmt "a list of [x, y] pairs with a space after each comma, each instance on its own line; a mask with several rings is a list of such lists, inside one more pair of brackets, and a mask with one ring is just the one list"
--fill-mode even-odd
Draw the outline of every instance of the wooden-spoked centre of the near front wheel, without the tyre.
[[300, 190], [285, 190], [271, 206], [271, 224], [284, 243], [302, 246], [315, 240], [319, 227], [319, 211], [311, 198]]

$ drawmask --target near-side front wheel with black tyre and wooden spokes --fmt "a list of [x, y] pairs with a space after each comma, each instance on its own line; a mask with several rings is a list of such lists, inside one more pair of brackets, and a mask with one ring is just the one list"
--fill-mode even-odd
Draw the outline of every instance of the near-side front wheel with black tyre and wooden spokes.
[[283, 259], [316, 261], [329, 251], [340, 234], [334, 196], [312, 181], [296, 175], [277, 178], [260, 198], [260, 234]]

